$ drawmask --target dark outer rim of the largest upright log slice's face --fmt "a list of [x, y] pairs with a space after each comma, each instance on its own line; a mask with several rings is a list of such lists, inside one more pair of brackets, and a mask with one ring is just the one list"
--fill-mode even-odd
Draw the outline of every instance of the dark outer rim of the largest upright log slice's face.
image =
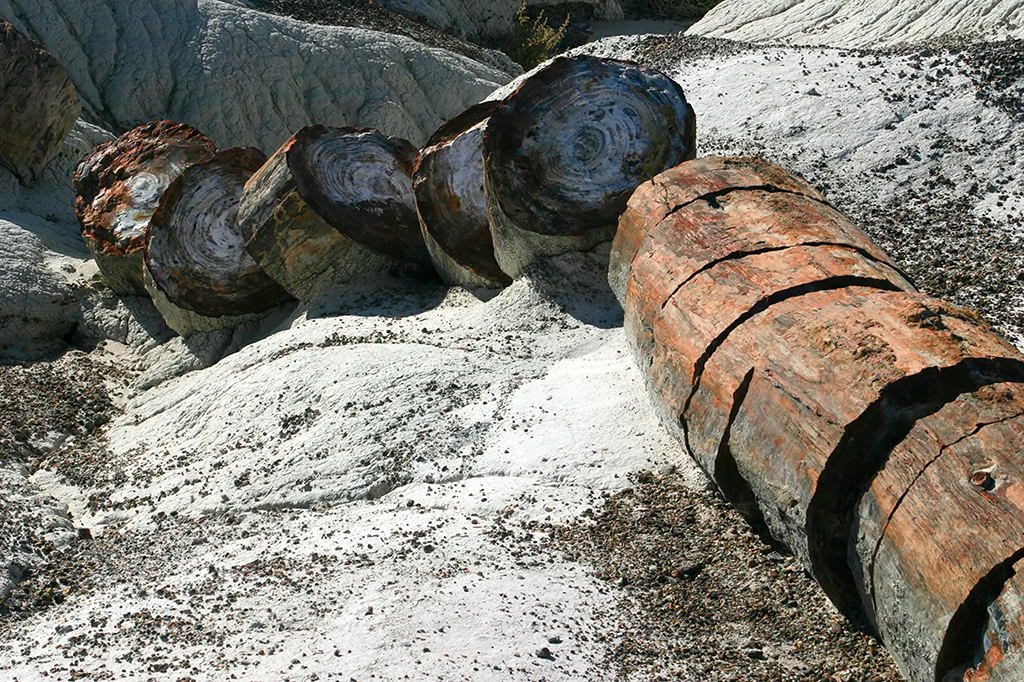
[[[553, 89], [583, 87], [581, 82], [585, 78], [591, 82], [599, 78], [613, 78], [625, 83], [631, 75], [633, 78], [659, 81], [667, 98], [677, 100], [677, 106], [673, 109], [682, 115], [677, 117], [673, 112], [673, 115], [665, 117], [663, 129], [652, 131], [666, 141], [665, 158], [658, 160], [656, 170], [640, 174], [629, 187], [610, 194], [596, 208], [573, 204], [556, 183], [545, 182], [543, 173], [537, 172], [538, 168], [530, 169], [535, 175], [534, 182], [528, 185], [515, 182], [513, 170], [523, 161], [529, 166], [538, 165], [538, 159], [527, 160], [520, 153], [525, 134], [541, 121], [534, 111], [537, 101], [544, 101]], [[558, 57], [524, 80], [502, 101], [490, 115], [483, 136], [483, 158], [486, 173], [493, 178], [490, 184], [499, 189], [498, 204], [517, 227], [547, 236], [581, 236], [597, 226], [614, 224], [637, 186], [667, 168], [694, 157], [694, 140], [693, 109], [678, 83], [659, 71], [632, 61], [582, 55]]]

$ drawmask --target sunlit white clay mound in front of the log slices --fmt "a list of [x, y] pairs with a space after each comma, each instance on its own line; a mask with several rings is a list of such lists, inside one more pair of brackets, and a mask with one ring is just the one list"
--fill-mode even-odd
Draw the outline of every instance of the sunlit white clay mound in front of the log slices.
[[[33, 480], [159, 563], [143, 591], [135, 571], [19, 627], [28, 648], [0, 642], [0, 671], [67, 666], [56, 639], [84, 636], [81, 673], [609, 678], [586, 643], [617, 617], [607, 583], [532, 553], [523, 524], [596, 509], [630, 471], [705, 479], [648, 408], [604, 257], [549, 261], [487, 301], [360, 275], [138, 396], [108, 432], [120, 484]], [[166, 656], [154, 617], [174, 620]], [[557, 658], [537, 658], [555, 636]]]

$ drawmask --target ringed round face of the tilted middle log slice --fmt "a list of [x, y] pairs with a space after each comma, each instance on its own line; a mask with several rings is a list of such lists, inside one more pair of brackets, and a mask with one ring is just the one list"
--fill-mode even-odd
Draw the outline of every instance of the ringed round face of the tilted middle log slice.
[[413, 194], [418, 151], [371, 128], [311, 125], [286, 153], [302, 200], [335, 229], [399, 260], [429, 263]]

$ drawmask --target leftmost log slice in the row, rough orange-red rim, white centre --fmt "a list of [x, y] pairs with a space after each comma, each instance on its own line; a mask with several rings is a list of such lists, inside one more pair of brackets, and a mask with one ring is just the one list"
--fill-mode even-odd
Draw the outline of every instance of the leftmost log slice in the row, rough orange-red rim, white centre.
[[97, 146], [75, 170], [75, 213], [103, 281], [121, 296], [145, 295], [142, 251], [168, 185], [216, 148], [191, 126], [157, 121]]

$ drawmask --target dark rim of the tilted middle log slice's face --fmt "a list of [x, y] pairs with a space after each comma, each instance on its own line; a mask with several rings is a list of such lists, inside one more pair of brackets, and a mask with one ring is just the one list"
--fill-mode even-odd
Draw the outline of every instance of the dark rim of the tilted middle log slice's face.
[[410, 176], [410, 184], [419, 150], [407, 139], [389, 137], [374, 128], [336, 128], [313, 124], [292, 136], [286, 159], [299, 196], [332, 227], [349, 239], [393, 258], [429, 263], [430, 256], [423, 244], [416, 204], [412, 197], [407, 206], [394, 201], [339, 204], [325, 196], [319, 182], [302, 163], [301, 155], [304, 147], [315, 144], [318, 139], [328, 135], [369, 135], [382, 151], [397, 160], [399, 167]]

